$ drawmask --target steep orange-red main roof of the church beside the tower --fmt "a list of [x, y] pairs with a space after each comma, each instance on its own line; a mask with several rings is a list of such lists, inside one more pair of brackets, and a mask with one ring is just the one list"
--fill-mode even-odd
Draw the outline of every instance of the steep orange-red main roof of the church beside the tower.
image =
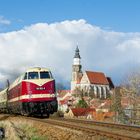
[[108, 85], [108, 80], [102, 72], [86, 71], [88, 79], [91, 84]]

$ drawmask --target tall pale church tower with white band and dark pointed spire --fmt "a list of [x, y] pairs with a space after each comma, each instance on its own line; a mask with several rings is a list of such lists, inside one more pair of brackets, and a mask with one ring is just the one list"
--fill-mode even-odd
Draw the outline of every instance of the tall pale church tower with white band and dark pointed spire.
[[77, 46], [73, 58], [73, 65], [72, 65], [71, 91], [74, 90], [76, 84], [80, 82], [82, 75], [83, 74], [82, 74], [81, 57], [79, 54], [79, 48]]

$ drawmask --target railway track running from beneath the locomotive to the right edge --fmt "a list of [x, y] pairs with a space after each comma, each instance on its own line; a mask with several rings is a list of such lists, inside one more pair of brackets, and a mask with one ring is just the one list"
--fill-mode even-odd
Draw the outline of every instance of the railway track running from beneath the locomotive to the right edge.
[[[132, 127], [125, 126], [121, 127], [121, 125], [118, 126], [118, 124], [112, 124], [109, 125], [108, 123], [103, 123], [104, 125], [101, 125], [101, 123], [96, 123], [96, 126], [91, 123], [90, 121], [82, 121], [82, 120], [74, 120], [74, 119], [39, 119], [39, 118], [26, 118], [31, 119], [34, 121], [39, 121], [43, 123], [48, 123], [51, 125], [57, 125], [73, 130], [81, 131], [88, 136], [92, 138], [92, 136], [98, 135], [102, 136], [104, 138], [110, 138], [110, 139], [117, 139], [117, 140], [140, 140], [140, 133], [139, 129], [134, 129]], [[116, 125], [116, 126], [114, 126]]]

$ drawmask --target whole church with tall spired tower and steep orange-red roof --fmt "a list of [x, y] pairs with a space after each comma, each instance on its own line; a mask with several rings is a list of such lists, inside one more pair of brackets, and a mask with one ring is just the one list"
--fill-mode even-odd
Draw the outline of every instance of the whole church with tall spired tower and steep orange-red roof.
[[81, 57], [77, 46], [72, 65], [71, 92], [79, 89], [87, 96], [106, 99], [114, 84], [110, 77], [106, 77], [103, 72], [85, 71], [82, 72]]

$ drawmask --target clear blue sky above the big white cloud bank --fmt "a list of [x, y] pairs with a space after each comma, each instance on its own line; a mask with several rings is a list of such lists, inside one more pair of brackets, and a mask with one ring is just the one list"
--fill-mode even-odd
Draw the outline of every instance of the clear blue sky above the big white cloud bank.
[[11, 21], [3, 32], [76, 19], [115, 31], [140, 31], [139, 0], [1, 0], [0, 15]]

